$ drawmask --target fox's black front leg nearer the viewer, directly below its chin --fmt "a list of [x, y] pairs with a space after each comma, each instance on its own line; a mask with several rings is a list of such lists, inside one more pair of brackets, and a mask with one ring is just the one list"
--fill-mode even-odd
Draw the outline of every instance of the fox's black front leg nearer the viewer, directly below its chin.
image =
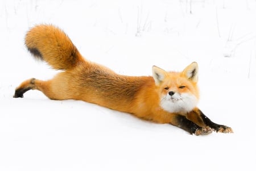
[[212, 129], [210, 127], [200, 127], [185, 116], [179, 114], [173, 115], [170, 124], [177, 126], [190, 134], [207, 135], [212, 133]]

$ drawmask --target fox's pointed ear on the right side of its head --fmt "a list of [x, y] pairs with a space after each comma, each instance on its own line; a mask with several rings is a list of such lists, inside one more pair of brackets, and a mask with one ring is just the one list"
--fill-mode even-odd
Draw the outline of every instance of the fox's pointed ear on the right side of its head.
[[188, 65], [182, 72], [182, 75], [186, 77], [188, 80], [193, 82], [198, 81], [198, 65], [197, 62], [192, 62], [192, 64]]

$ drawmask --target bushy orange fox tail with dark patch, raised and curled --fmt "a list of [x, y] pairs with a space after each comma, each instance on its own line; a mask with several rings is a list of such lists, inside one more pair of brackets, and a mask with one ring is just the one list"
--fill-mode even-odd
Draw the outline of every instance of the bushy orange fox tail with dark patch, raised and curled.
[[52, 25], [40, 24], [31, 28], [25, 44], [34, 57], [46, 61], [54, 69], [71, 69], [82, 60], [69, 37]]

